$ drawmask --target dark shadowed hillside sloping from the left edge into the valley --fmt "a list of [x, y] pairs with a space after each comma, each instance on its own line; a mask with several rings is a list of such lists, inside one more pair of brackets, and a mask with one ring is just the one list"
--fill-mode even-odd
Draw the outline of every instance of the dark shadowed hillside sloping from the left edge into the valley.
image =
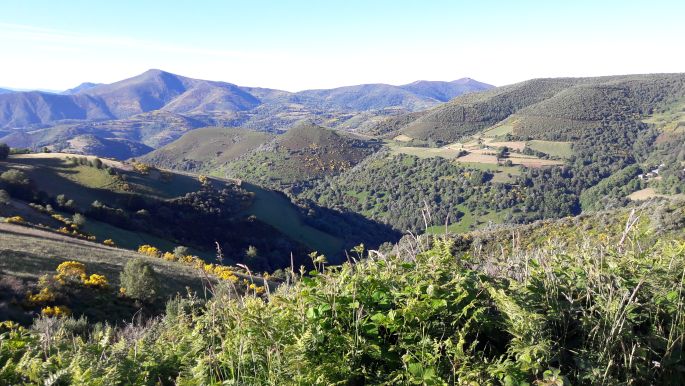
[[[296, 263], [308, 264], [312, 250], [339, 261], [354, 242], [379, 245], [398, 239], [386, 226], [361, 216], [304, 213], [278, 192], [234, 180], [201, 182], [196, 175], [138, 161], [14, 155], [0, 162], [0, 175], [0, 189], [18, 200], [0, 206], [0, 216], [20, 215], [29, 224], [59, 230], [79, 213], [87, 222], [75, 233], [78, 237], [112, 239], [129, 249], [149, 244], [169, 251], [185, 245], [209, 260], [218, 242], [227, 261], [258, 270], [290, 265], [291, 253]], [[328, 226], [317, 218], [325, 218]], [[198, 228], [198, 223], [207, 227]], [[256, 255], [246, 253], [250, 248]]]

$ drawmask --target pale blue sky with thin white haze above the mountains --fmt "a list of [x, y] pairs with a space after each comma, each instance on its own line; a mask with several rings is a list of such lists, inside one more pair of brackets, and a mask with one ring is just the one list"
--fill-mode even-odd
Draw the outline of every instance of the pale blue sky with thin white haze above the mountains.
[[3, 1], [0, 87], [150, 68], [288, 91], [685, 72], [685, 1]]

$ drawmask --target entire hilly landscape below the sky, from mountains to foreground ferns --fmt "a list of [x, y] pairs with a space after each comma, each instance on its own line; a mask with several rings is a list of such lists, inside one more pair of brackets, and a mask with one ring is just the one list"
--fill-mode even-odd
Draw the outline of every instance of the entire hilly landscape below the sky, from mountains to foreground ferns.
[[[685, 336], [685, 75], [288, 93], [152, 70], [65, 95], [0, 117], [0, 379], [109, 380], [116, 352], [174, 384], [217, 344], [245, 384], [678, 377], [650, 366]], [[26, 348], [40, 323], [59, 350]]]

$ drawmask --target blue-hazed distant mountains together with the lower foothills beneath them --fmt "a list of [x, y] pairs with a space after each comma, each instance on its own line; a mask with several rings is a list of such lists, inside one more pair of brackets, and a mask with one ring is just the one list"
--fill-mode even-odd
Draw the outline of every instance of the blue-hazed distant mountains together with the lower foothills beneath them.
[[[12, 146], [37, 148], [55, 145], [44, 139], [59, 137], [59, 146], [66, 149], [63, 142], [70, 138], [64, 137], [65, 125], [69, 125], [72, 136], [94, 134], [104, 140], [123, 139], [153, 148], [202, 126], [277, 131], [306, 119], [356, 130], [388, 115], [423, 110], [454, 95], [488, 87], [491, 86], [465, 79], [291, 93], [149, 70], [112, 84], [83, 83], [61, 94], [2, 94], [0, 140]], [[172, 123], [168, 121], [170, 116], [175, 117]], [[192, 122], [179, 126], [182, 120]], [[122, 126], [130, 129], [120, 130]], [[52, 131], [53, 127], [58, 133], [34, 133], [36, 129]]]

